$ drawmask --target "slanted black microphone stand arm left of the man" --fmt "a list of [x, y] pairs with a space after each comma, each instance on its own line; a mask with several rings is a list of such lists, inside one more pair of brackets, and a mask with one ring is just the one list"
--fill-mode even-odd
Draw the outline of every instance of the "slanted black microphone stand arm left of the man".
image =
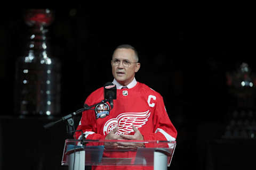
[[44, 128], [45, 128], [45, 129], [48, 129], [48, 128], [51, 128], [53, 125], [58, 124], [58, 123], [60, 123], [60, 122], [62, 122], [62, 121], [63, 121], [63, 122], [67, 121], [67, 122], [66, 122], [66, 123], [67, 123], [67, 133], [68, 133], [69, 135], [72, 135], [72, 133], [75, 132], [75, 124], [74, 124], [74, 120], [73, 120], [73, 117], [74, 117], [74, 116], [76, 116], [76, 115], [82, 113], [83, 111], [87, 111], [87, 110], [91, 109], [92, 107], [94, 107], [94, 106], [96, 106], [96, 105], [106, 103], [107, 101], [108, 101], [107, 99], [104, 99], [104, 100], [102, 100], [100, 103], [94, 104], [94, 105], [92, 105], [92, 106], [88, 106], [88, 105], [85, 104], [85, 105], [84, 105], [84, 108], [81, 108], [81, 109], [79, 109], [79, 110], [76, 111], [76, 112], [70, 113], [70, 114], [68, 114], [68, 115], [66, 115], [66, 116], [64, 116], [64, 117], [62, 117], [62, 118], [61, 118], [60, 120], [58, 120], [58, 121], [50, 122], [50, 123], [45, 124], [45, 125], [44, 125]]

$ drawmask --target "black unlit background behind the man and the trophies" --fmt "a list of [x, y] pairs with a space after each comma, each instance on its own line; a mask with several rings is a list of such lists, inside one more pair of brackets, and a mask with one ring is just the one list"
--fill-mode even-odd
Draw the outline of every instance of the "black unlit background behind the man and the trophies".
[[[89, 12], [82, 7], [53, 10], [55, 19], [48, 29], [51, 54], [62, 65], [60, 116], [82, 108], [92, 91], [113, 80], [110, 65], [113, 50], [118, 45], [131, 44], [137, 48], [141, 63], [137, 81], [163, 96], [178, 130], [171, 169], [244, 166], [234, 164], [238, 162], [234, 148], [239, 150], [241, 145], [219, 139], [229, 109], [236, 107], [230, 103], [226, 73], [238, 69], [242, 62], [255, 71], [255, 26], [250, 10], [140, 13]], [[0, 167], [65, 169], [60, 166], [67, 138], [65, 125], [46, 131], [42, 126], [51, 120], [20, 118], [13, 112], [14, 62], [24, 52], [29, 31], [23, 20], [24, 11], [22, 8], [1, 11]], [[214, 142], [215, 139], [218, 141]], [[227, 146], [230, 150], [223, 151]], [[226, 155], [214, 147], [223, 148], [220, 150]]]

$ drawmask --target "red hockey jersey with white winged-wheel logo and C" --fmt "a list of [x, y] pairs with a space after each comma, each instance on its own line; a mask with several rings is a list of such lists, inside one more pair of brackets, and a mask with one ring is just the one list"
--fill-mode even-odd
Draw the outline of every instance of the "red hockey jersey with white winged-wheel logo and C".
[[[103, 99], [104, 89], [102, 87], [92, 92], [87, 97], [85, 104], [92, 106], [100, 103]], [[117, 89], [116, 99], [113, 103], [114, 107], [110, 112], [84, 111], [77, 130], [82, 130], [86, 139], [103, 140], [109, 132], [115, 129], [116, 125], [118, 126], [116, 134], [133, 134], [132, 125], [134, 125], [143, 135], [144, 140], [173, 141], [176, 139], [177, 130], [167, 115], [162, 96], [146, 84], [137, 82], [131, 89]], [[109, 104], [101, 104], [95, 108], [106, 109], [109, 108]], [[81, 132], [75, 133], [76, 139], [80, 136]], [[145, 143], [145, 147], [147, 147], [147, 143]], [[108, 167], [98, 166], [98, 168], [107, 169]], [[124, 169], [123, 166], [115, 167], [115, 169], [118, 168]], [[136, 169], [138, 168], [153, 169], [153, 167], [136, 166]]]

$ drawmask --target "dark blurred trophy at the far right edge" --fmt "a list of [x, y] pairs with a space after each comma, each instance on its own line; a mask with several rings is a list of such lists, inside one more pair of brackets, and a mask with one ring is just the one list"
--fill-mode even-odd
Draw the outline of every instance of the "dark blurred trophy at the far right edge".
[[255, 85], [256, 76], [247, 63], [227, 73], [231, 95], [228, 122], [223, 139], [256, 139]]

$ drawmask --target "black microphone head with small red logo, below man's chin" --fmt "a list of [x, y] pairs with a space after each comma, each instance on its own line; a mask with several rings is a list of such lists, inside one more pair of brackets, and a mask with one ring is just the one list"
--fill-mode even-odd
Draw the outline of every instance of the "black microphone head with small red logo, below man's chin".
[[104, 99], [109, 102], [112, 109], [114, 107], [113, 100], [116, 99], [116, 85], [112, 82], [107, 82], [104, 85]]

